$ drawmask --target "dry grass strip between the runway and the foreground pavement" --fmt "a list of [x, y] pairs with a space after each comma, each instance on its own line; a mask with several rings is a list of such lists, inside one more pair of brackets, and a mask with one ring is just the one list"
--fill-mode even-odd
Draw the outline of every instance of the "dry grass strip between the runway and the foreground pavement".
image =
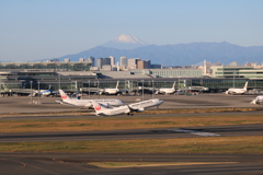
[[0, 152], [68, 153], [263, 153], [263, 137], [213, 137], [0, 143]]

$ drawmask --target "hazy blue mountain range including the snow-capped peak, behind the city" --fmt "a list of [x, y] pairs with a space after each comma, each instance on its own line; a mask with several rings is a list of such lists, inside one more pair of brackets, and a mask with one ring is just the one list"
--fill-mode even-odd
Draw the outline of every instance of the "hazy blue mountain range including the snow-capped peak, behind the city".
[[60, 57], [70, 58], [71, 61], [79, 61], [79, 58], [105, 58], [113, 56], [116, 60], [122, 56], [151, 60], [151, 63], [163, 66], [188, 66], [207, 60], [229, 65], [237, 61], [263, 62], [263, 46], [242, 47], [229, 43], [191, 43], [175, 45], [148, 45], [133, 35], [121, 35], [101, 46]]

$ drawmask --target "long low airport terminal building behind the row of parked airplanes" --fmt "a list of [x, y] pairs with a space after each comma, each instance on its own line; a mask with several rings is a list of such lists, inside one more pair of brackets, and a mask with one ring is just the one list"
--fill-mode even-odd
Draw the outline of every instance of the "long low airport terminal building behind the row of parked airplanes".
[[[0, 62], [0, 93], [15, 93], [24, 89], [56, 91], [88, 91], [115, 88], [129, 91], [144, 88], [172, 88], [221, 92], [229, 88], [263, 89], [263, 70], [251, 67], [218, 67], [215, 77], [203, 77], [202, 69], [133, 69], [126, 71], [90, 71], [92, 62]], [[215, 68], [216, 69], [216, 68]], [[255, 72], [254, 75], [251, 75]], [[237, 73], [238, 72], [238, 73]], [[244, 75], [247, 74], [250, 75]], [[243, 74], [242, 74], [243, 73]]]

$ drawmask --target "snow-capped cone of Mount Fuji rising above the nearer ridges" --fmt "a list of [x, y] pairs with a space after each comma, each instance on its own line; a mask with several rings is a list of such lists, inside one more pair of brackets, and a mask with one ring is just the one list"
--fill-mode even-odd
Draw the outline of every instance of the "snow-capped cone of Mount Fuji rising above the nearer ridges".
[[138, 47], [147, 46], [149, 44], [138, 39], [134, 35], [122, 34], [118, 37], [101, 45], [102, 47], [116, 48], [116, 49], [135, 49]]

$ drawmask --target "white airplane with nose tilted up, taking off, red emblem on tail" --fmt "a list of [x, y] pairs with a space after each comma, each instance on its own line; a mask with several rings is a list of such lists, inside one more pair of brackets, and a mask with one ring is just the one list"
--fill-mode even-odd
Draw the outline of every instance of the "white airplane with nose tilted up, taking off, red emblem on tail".
[[133, 112], [144, 112], [145, 108], [152, 107], [152, 106], [159, 106], [163, 103], [162, 100], [155, 98], [155, 100], [148, 100], [142, 101], [129, 105], [124, 105], [119, 107], [113, 107], [113, 108], [106, 108], [102, 106], [100, 103], [92, 101], [93, 108], [95, 109], [96, 116], [115, 116], [121, 114], [127, 114], [133, 116]]

